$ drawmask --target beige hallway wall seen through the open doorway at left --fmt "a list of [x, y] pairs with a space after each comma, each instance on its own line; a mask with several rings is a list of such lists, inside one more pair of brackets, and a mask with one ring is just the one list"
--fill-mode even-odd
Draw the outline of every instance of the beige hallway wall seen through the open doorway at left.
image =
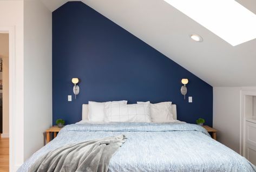
[[9, 137], [9, 34], [0, 34], [0, 57], [3, 59], [3, 135]]

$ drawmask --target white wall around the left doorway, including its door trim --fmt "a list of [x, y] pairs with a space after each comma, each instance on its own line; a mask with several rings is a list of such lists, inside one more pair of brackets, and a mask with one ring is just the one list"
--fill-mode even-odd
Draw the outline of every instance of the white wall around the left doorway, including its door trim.
[[9, 171], [24, 162], [24, 2], [0, 1], [0, 32], [9, 33]]

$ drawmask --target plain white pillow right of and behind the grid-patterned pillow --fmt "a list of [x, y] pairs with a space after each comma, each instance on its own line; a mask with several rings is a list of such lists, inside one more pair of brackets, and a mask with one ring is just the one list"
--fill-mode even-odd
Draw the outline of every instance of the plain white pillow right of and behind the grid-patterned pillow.
[[[137, 102], [138, 104], [149, 102]], [[152, 122], [168, 122], [173, 121], [172, 102], [150, 103]]]

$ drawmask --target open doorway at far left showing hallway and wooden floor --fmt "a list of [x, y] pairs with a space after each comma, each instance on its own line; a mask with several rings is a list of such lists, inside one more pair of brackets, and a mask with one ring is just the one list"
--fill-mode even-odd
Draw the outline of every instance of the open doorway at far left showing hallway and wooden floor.
[[0, 33], [0, 171], [9, 171], [9, 34]]

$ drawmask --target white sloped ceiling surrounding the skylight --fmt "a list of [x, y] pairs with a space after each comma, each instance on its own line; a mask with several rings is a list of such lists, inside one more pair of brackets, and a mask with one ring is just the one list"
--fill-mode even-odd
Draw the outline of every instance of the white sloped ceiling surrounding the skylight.
[[[41, 1], [51, 11], [68, 2]], [[212, 86], [256, 86], [256, 39], [233, 47], [163, 0], [82, 2]], [[238, 2], [256, 14], [255, 0]], [[204, 42], [192, 41], [191, 34]]]

